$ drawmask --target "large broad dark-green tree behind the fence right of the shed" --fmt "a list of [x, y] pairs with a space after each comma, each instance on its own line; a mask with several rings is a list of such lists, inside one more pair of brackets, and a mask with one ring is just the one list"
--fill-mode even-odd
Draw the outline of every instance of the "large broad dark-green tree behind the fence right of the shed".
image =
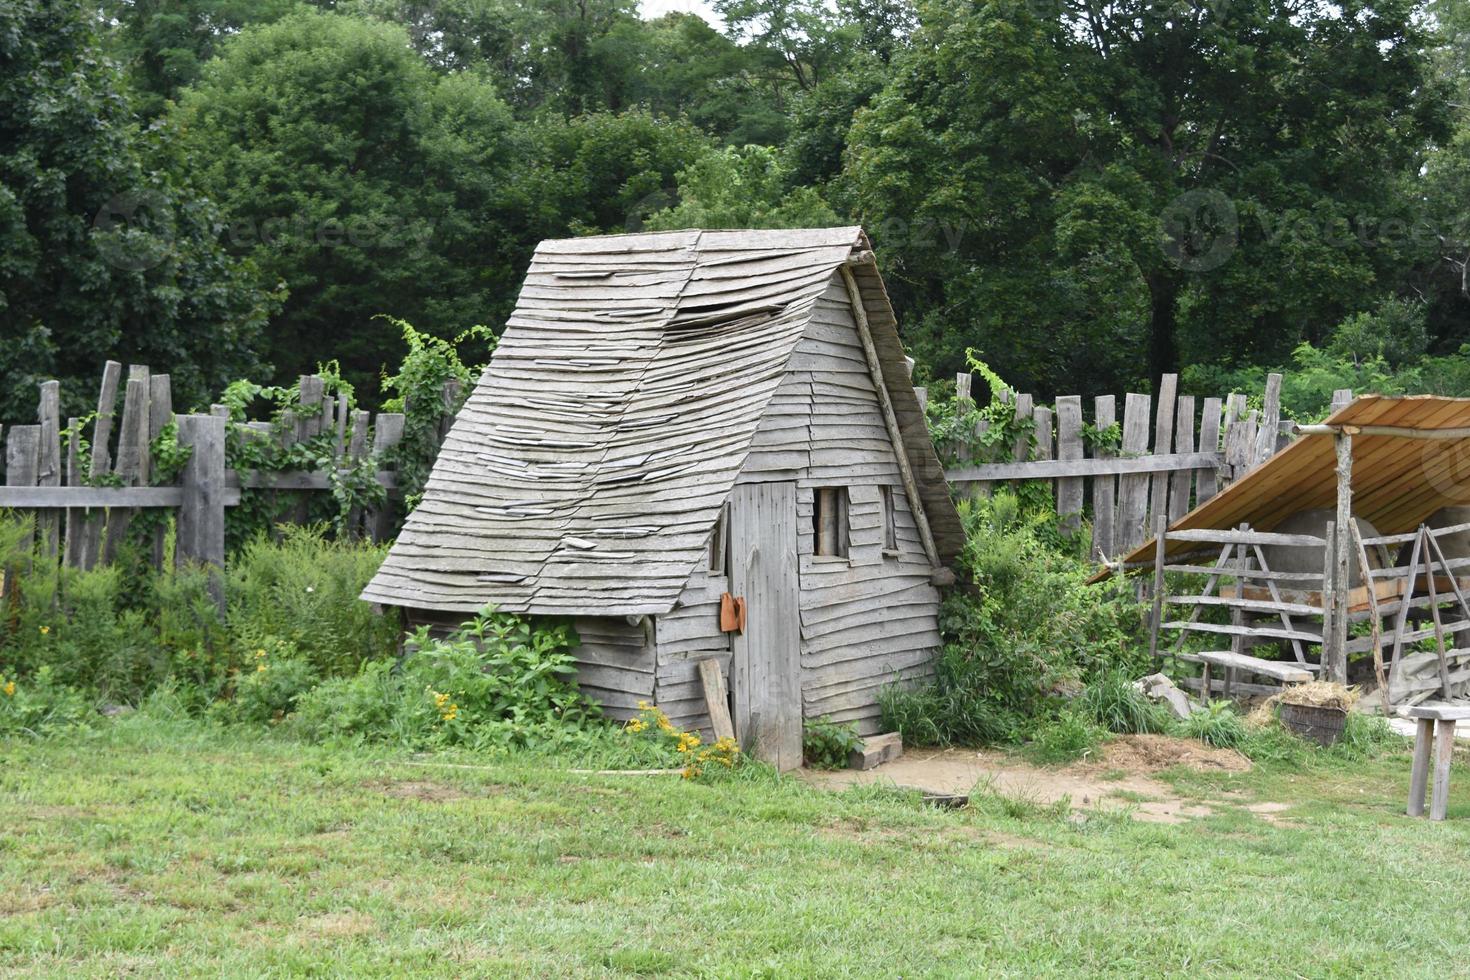
[[1270, 360], [1380, 301], [1444, 131], [1407, 0], [925, 0], [845, 175], [916, 339], [1025, 383]]

